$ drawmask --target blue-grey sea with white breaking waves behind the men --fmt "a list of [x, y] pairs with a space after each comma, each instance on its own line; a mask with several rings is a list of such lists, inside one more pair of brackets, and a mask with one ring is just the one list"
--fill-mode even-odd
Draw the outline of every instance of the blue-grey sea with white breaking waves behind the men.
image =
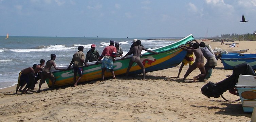
[[[14, 86], [18, 83], [18, 74], [22, 69], [40, 64], [40, 59], [51, 59], [50, 54], [56, 54], [57, 66], [67, 66], [78, 46], [84, 46], [84, 53], [96, 45], [99, 54], [110, 40], [119, 42], [123, 55], [129, 52], [134, 38], [87, 38], [87, 37], [37, 37], [37, 36], [0, 36], [0, 89]], [[171, 44], [181, 38], [137, 38], [147, 49], [155, 49]]]

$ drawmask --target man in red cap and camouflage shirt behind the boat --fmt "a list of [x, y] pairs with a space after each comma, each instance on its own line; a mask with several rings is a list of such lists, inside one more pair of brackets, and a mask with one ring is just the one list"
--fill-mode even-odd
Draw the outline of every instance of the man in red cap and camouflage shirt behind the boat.
[[95, 50], [96, 45], [92, 44], [91, 49], [86, 53], [85, 62], [94, 62], [99, 58], [99, 52]]

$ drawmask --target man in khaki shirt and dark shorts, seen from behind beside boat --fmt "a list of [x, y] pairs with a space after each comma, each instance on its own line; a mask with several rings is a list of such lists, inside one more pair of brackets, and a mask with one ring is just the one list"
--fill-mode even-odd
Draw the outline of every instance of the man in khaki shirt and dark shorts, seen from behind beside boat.
[[[88, 67], [88, 64], [85, 63], [85, 54], [83, 53], [84, 47], [79, 46], [78, 51], [73, 55], [73, 58], [69, 64], [68, 70], [70, 70], [71, 65], [73, 64], [73, 72], [74, 72], [74, 87], [77, 86], [78, 81], [83, 76], [83, 64], [85, 64], [86, 67]], [[79, 77], [76, 80], [76, 73], [79, 74]]]

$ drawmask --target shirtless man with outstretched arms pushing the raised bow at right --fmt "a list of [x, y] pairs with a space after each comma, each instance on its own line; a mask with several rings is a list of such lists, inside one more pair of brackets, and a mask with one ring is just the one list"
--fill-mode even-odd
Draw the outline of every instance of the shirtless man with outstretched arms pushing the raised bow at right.
[[183, 81], [187, 78], [187, 76], [196, 68], [199, 68], [199, 70], [201, 71], [201, 74], [197, 75], [194, 77], [194, 82], [196, 82], [196, 78], [199, 77], [204, 77], [205, 75], [205, 69], [204, 69], [204, 57], [203, 57], [203, 53], [201, 51], [201, 49], [199, 48], [199, 45], [197, 43], [193, 44], [193, 47], [188, 47], [185, 45], [181, 45], [179, 46], [179, 48], [186, 50], [186, 51], [190, 51], [190, 52], [194, 52], [196, 59], [195, 62], [187, 69], [186, 74], [184, 75]]

